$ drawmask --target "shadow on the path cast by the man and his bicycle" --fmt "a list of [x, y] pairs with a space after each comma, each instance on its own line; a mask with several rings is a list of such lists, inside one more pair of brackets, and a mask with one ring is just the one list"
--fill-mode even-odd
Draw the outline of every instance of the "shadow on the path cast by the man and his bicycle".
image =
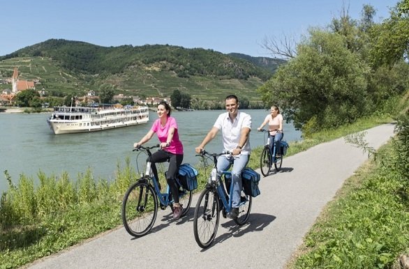
[[251, 214], [248, 222], [243, 226], [238, 226], [234, 220], [230, 222], [225, 222], [221, 224], [221, 226], [225, 228], [230, 228], [227, 233], [223, 233], [221, 236], [214, 238], [214, 242], [207, 247], [206, 249], [202, 249], [201, 252], [205, 252], [207, 249], [210, 249], [214, 245], [218, 243], [223, 243], [223, 241], [228, 240], [231, 237], [240, 237], [246, 233], [251, 233], [255, 231], [262, 231], [266, 226], [276, 220], [276, 216], [274, 215], [266, 215], [255, 213]]

